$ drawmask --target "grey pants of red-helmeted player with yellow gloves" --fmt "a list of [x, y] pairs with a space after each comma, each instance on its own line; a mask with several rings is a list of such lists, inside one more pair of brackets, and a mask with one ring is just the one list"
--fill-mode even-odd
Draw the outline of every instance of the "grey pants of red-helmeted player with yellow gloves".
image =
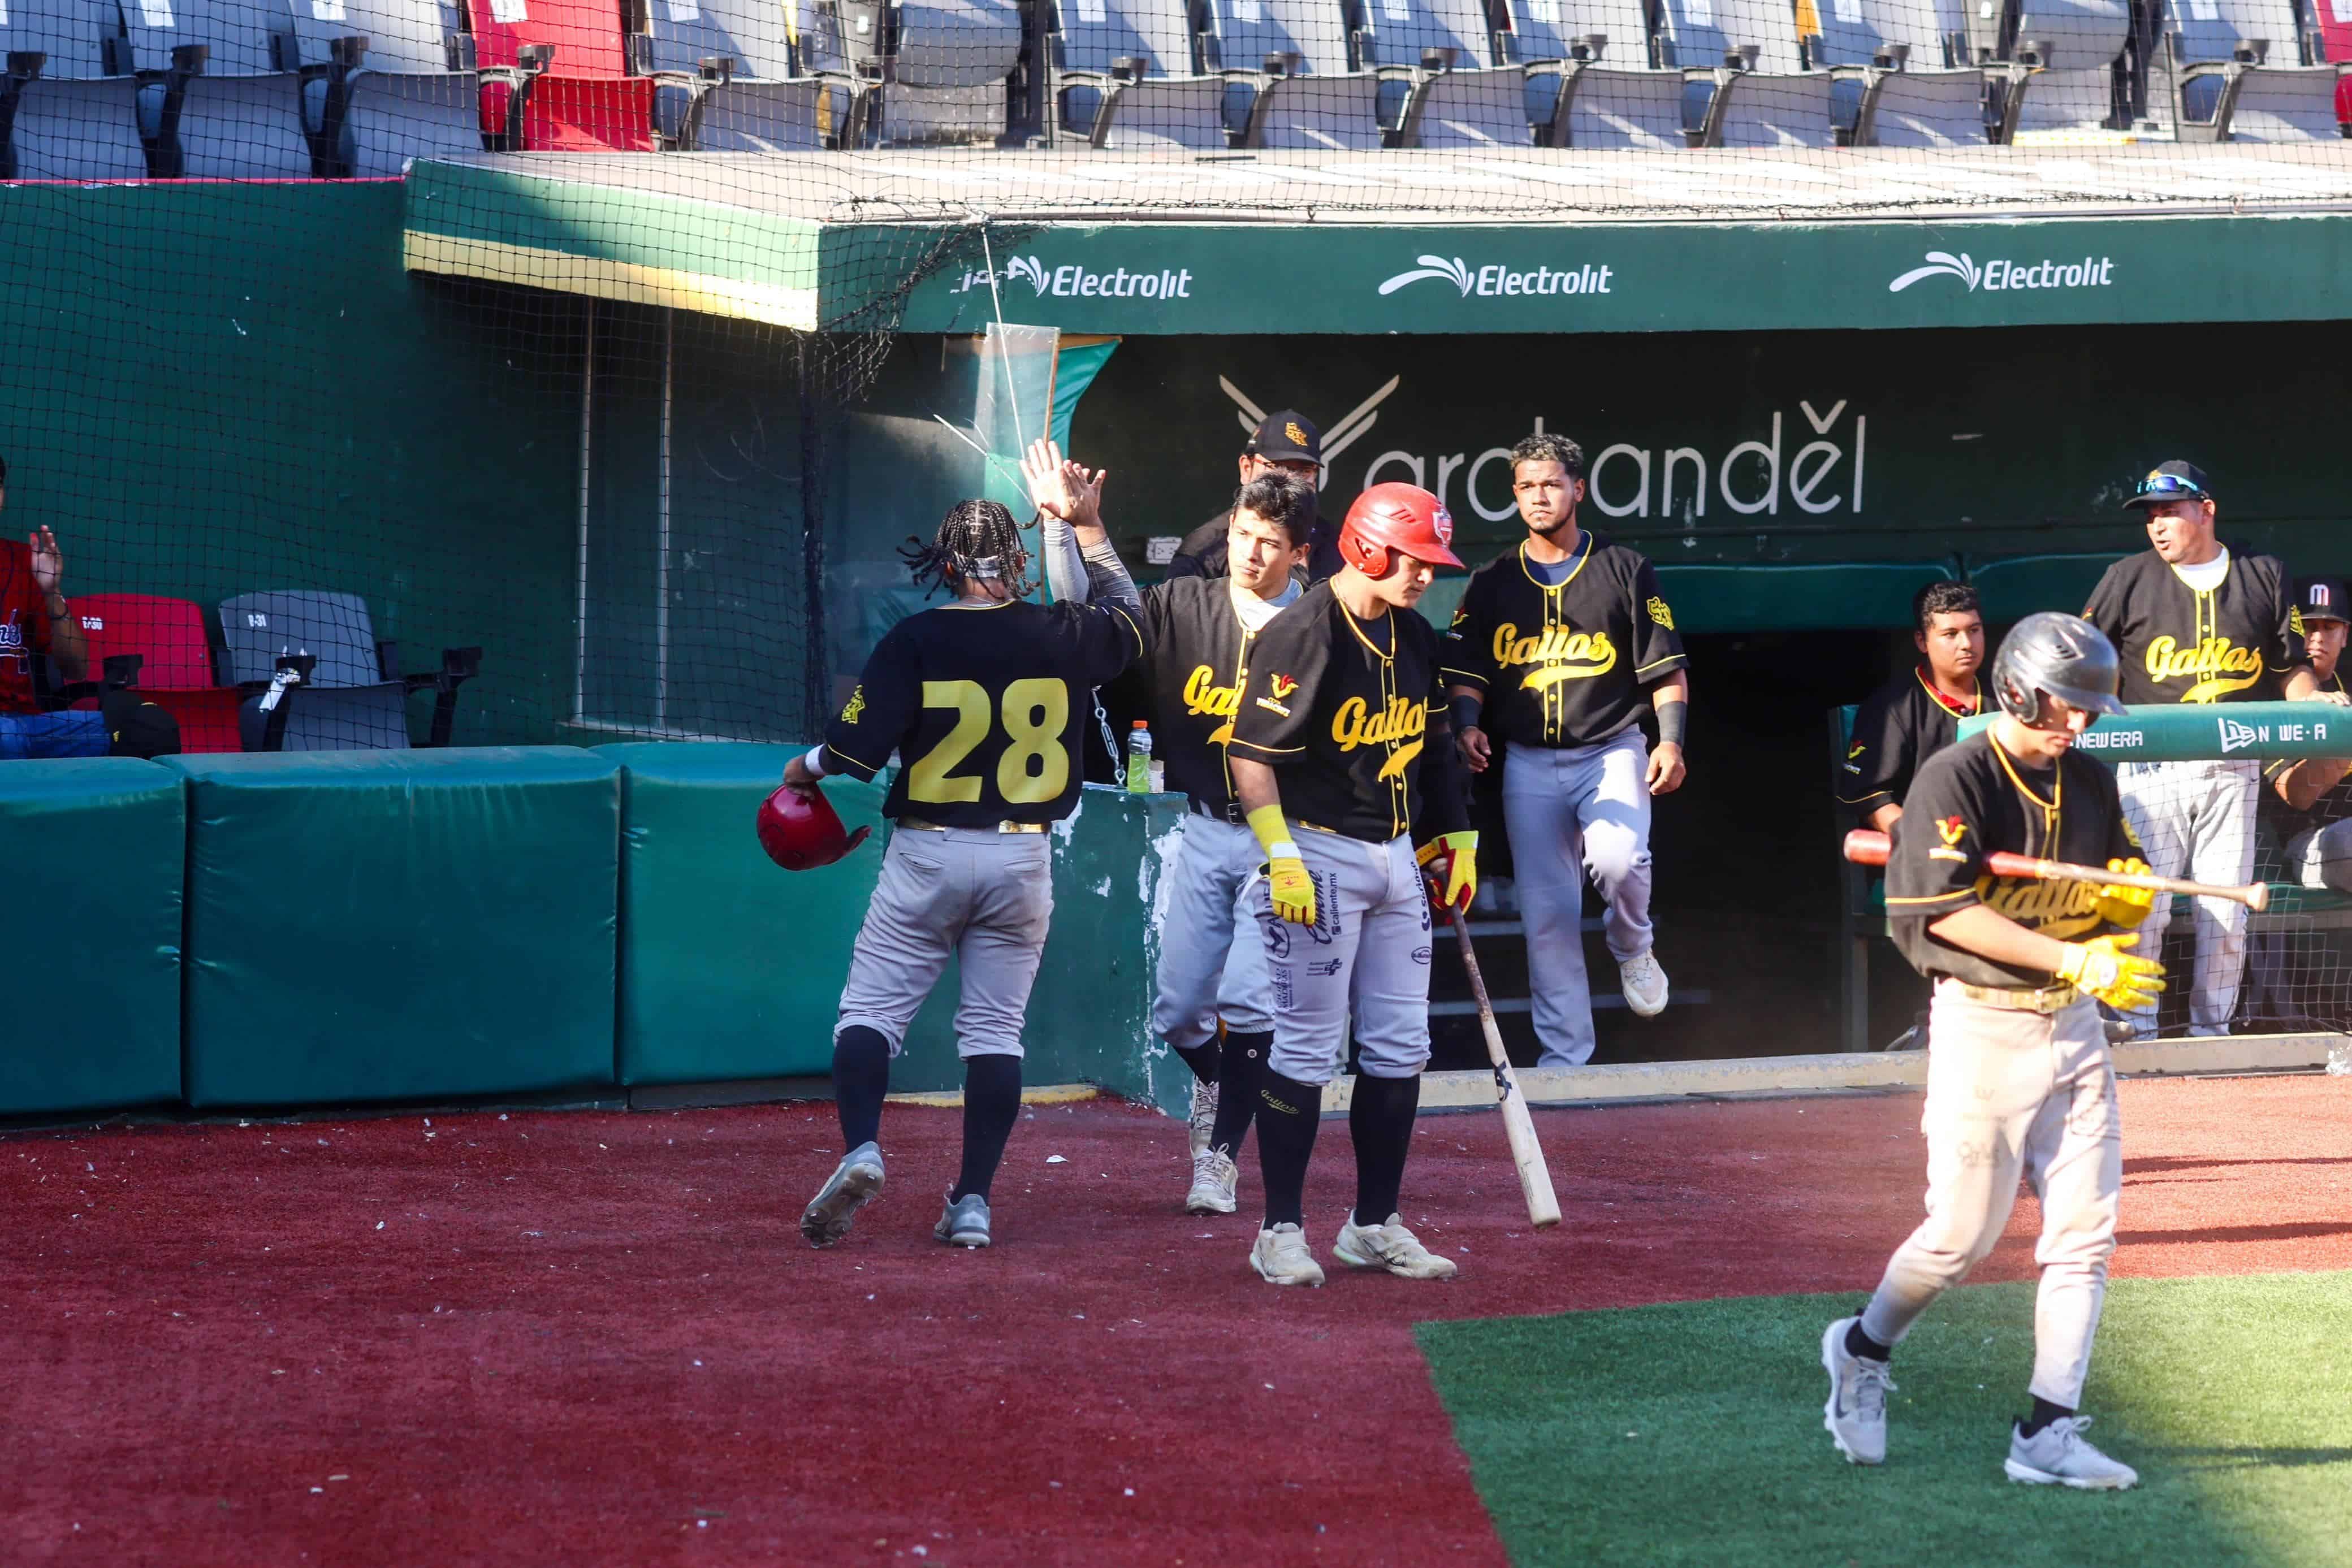
[[1268, 1065], [1322, 1088], [1348, 1065], [1352, 1013], [1357, 1065], [1409, 1079], [1430, 1063], [1430, 896], [1414, 839], [1364, 844], [1298, 823], [1291, 837], [1315, 879], [1315, 924], [1279, 919], [1268, 882], [1251, 891], [1275, 999]]

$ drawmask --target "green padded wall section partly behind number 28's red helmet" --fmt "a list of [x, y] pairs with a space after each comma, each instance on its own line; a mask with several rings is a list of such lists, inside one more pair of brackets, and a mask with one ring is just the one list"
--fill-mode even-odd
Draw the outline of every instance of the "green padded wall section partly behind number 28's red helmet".
[[[621, 1081], [708, 1084], [833, 1070], [849, 947], [880, 837], [814, 872], [760, 851], [753, 816], [795, 745], [600, 745], [621, 766]], [[849, 832], [882, 785], [826, 780]]]

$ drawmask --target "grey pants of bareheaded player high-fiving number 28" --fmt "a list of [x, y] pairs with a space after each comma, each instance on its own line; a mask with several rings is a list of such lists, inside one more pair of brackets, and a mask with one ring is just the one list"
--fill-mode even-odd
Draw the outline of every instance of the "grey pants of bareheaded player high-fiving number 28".
[[1265, 943], [1242, 905], [1261, 865], [1265, 849], [1247, 823], [1223, 823], [1200, 811], [1185, 816], [1167, 872], [1160, 990], [1152, 997], [1152, 1034], [1171, 1046], [1192, 1048], [1216, 1039], [1218, 1018], [1244, 1034], [1275, 1027], [1265, 1011]]

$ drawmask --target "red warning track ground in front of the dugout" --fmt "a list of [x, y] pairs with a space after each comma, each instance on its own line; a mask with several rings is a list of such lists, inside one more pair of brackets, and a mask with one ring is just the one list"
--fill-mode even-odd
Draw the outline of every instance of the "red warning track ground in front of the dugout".
[[[826, 1105], [0, 1140], [7, 1563], [1501, 1563], [1411, 1342], [1503, 1316], [1865, 1291], [1919, 1100], [1432, 1117], [1454, 1284], [1272, 1291], [1188, 1220], [1183, 1128], [1014, 1135], [990, 1253], [931, 1244], [957, 1114], [811, 1253]], [[2352, 1081], [2126, 1084], [2124, 1274], [2352, 1265]], [[1058, 1159], [1054, 1159], [1058, 1157]], [[1348, 1204], [1343, 1126], [1310, 1187]], [[1985, 1279], [2032, 1269], [2032, 1201]]]

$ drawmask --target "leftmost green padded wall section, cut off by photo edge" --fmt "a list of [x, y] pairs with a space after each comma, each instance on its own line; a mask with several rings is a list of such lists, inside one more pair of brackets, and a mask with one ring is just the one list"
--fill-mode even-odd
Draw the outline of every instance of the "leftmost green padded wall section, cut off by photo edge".
[[0, 762], [9, 1020], [0, 1114], [179, 1098], [179, 773], [136, 757]]

